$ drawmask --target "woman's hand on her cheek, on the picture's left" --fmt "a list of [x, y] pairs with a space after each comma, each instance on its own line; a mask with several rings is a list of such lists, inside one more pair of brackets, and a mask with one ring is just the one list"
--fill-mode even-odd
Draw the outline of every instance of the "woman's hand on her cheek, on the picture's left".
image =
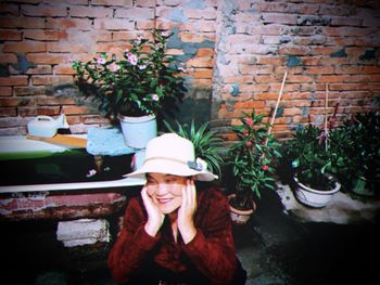
[[142, 187], [141, 197], [148, 212], [148, 221], [144, 226], [145, 232], [151, 236], [155, 236], [161, 225], [164, 223], [165, 215], [155, 206], [152, 198], [148, 195], [147, 186]]

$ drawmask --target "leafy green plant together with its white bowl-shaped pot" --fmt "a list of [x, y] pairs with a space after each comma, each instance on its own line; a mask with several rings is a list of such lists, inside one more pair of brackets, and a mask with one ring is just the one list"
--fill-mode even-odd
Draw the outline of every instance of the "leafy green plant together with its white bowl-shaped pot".
[[[333, 134], [331, 134], [333, 137]], [[325, 207], [341, 184], [334, 176], [344, 164], [338, 148], [330, 148], [325, 130], [312, 124], [295, 131], [282, 147], [291, 163], [295, 197], [311, 207]]]

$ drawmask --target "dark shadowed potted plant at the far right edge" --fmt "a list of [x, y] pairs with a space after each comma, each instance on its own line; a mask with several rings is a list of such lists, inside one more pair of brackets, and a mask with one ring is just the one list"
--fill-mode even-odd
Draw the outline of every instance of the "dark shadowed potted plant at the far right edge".
[[345, 140], [338, 147], [345, 154], [344, 168], [339, 170], [344, 189], [362, 196], [379, 194], [380, 113], [357, 114], [344, 122], [343, 129]]

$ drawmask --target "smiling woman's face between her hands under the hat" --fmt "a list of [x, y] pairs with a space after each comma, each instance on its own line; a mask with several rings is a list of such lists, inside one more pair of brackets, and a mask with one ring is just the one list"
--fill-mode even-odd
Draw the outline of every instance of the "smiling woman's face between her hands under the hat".
[[182, 189], [186, 186], [187, 179], [187, 177], [164, 173], [148, 173], [148, 195], [163, 213], [174, 212], [182, 203]]

